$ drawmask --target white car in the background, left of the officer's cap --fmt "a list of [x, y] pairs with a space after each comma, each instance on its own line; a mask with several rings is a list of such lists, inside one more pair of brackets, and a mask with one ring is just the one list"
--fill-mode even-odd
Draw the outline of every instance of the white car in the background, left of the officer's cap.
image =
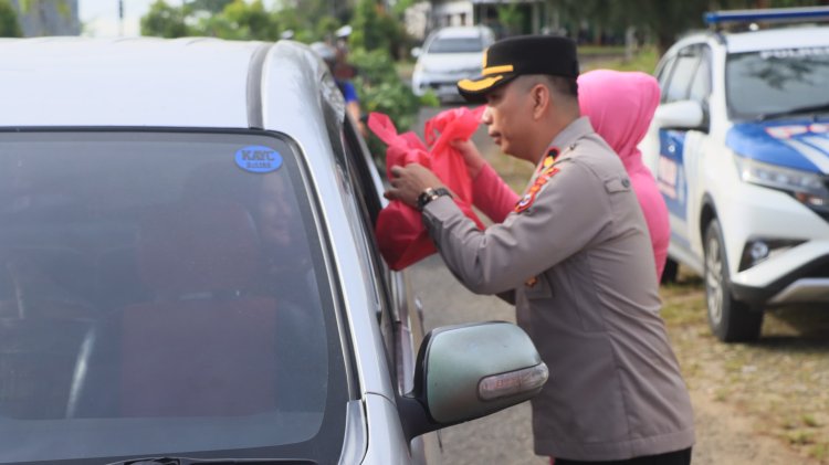
[[495, 41], [490, 28], [449, 27], [433, 31], [414, 49], [418, 59], [411, 76], [414, 95], [431, 89], [443, 101], [460, 99], [458, 81], [481, 73], [483, 51]]

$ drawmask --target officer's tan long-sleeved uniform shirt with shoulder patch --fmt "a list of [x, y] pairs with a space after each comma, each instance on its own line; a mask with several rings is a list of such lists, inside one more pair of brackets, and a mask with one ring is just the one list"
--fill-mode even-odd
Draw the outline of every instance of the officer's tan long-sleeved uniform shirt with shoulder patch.
[[557, 171], [503, 223], [480, 231], [445, 197], [423, 222], [471, 290], [514, 289], [518, 325], [549, 368], [533, 400], [537, 454], [611, 461], [690, 447], [691, 402], [625, 168], [586, 117], [552, 147]]

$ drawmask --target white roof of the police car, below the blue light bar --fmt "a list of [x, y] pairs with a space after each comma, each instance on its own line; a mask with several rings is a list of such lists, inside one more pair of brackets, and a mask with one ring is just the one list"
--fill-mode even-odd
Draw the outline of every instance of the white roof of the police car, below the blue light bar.
[[725, 34], [730, 53], [829, 46], [829, 27], [793, 27]]

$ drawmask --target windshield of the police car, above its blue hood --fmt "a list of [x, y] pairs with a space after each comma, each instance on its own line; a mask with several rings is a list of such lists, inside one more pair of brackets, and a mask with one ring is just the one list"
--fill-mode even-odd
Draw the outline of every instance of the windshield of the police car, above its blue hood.
[[725, 67], [728, 108], [735, 119], [829, 103], [826, 83], [829, 46], [732, 53]]

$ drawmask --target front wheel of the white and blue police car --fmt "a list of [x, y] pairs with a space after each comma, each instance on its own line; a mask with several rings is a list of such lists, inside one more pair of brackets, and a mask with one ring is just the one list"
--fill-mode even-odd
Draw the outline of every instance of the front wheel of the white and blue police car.
[[763, 327], [763, 311], [734, 299], [725, 256], [722, 228], [712, 220], [705, 233], [705, 298], [709, 326], [723, 342], [756, 340]]

